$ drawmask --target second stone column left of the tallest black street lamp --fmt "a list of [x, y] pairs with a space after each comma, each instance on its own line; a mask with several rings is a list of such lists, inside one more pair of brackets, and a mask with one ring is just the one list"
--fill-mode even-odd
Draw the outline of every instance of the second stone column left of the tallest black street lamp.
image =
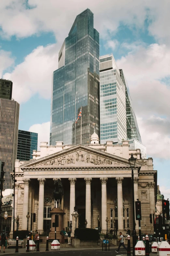
[[106, 183], [108, 178], [100, 178], [102, 183], [102, 231], [106, 232], [107, 224], [106, 224], [106, 217], [107, 217], [107, 192], [106, 192]]

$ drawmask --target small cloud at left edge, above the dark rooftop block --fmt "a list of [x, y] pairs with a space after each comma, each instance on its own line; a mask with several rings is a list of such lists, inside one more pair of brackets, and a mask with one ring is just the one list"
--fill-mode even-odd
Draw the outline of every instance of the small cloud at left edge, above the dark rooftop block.
[[0, 78], [3, 71], [14, 64], [14, 58], [11, 57], [11, 52], [0, 50]]

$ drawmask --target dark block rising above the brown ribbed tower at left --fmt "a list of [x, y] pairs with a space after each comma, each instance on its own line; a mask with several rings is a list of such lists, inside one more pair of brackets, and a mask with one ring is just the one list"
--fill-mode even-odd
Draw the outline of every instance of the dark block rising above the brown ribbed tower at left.
[[0, 79], [0, 98], [9, 99], [12, 98], [12, 81], [6, 79]]

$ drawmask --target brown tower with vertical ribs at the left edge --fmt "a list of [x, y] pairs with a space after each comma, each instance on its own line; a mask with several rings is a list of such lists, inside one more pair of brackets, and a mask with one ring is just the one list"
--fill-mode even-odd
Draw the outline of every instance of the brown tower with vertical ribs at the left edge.
[[4, 164], [4, 189], [12, 188], [10, 172], [17, 158], [18, 122], [20, 104], [15, 100], [0, 98], [0, 159]]

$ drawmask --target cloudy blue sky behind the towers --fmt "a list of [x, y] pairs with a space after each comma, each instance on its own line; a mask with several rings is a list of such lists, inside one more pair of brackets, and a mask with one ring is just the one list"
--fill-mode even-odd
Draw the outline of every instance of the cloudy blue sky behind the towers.
[[147, 157], [170, 198], [170, 1], [1, 0], [0, 77], [13, 82], [19, 129], [50, 137], [52, 73], [76, 16], [89, 8], [100, 55], [113, 53], [128, 81]]

